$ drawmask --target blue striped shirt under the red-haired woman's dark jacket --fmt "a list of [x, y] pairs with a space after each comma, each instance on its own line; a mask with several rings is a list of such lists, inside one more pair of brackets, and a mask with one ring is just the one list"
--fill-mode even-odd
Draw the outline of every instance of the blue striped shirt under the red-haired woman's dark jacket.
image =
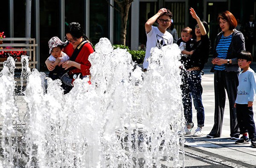
[[[221, 36], [221, 39], [219, 43], [216, 46], [216, 52], [218, 54], [218, 58], [226, 59], [227, 58], [227, 50], [230, 46], [232, 40], [232, 35], [229, 35], [227, 37], [224, 37], [224, 35]], [[214, 70], [225, 70], [225, 64], [222, 65], [215, 65]]]

